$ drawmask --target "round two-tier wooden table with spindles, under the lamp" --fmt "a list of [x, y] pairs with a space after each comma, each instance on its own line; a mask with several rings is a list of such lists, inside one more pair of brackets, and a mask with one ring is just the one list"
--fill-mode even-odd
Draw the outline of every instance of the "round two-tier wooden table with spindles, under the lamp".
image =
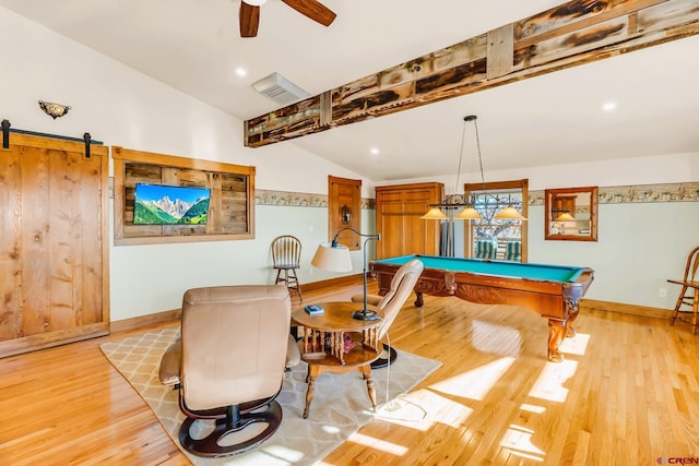
[[367, 306], [378, 319], [363, 321], [352, 318], [352, 313], [364, 306], [360, 302], [319, 302], [317, 306], [323, 308], [322, 314], [310, 315], [303, 307], [292, 313], [292, 320], [304, 327], [304, 337], [298, 344], [301, 359], [308, 363], [304, 419], [308, 418], [316, 379], [323, 372], [362, 372], [371, 407], [376, 409], [371, 362], [381, 356], [378, 328], [383, 323], [383, 312], [376, 306]]

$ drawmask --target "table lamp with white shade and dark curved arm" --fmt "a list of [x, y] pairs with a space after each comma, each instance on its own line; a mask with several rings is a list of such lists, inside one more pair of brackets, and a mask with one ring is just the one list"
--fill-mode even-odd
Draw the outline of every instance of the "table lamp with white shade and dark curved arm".
[[342, 228], [340, 231], [335, 234], [332, 242], [323, 242], [318, 246], [316, 250], [316, 255], [310, 261], [310, 264], [313, 267], [320, 268], [321, 271], [328, 272], [350, 272], [352, 271], [352, 260], [350, 259], [350, 248], [344, 244], [337, 243], [337, 236], [344, 230], [353, 231], [359, 235], [364, 240], [364, 308], [356, 310], [352, 313], [352, 318], [359, 321], [375, 321], [379, 318], [376, 311], [372, 311], [368, 308], [367, 304], [367, 241], [369, 240], [381, 240], [381, 235], [369, 235], [362, 234], [354, 228]]

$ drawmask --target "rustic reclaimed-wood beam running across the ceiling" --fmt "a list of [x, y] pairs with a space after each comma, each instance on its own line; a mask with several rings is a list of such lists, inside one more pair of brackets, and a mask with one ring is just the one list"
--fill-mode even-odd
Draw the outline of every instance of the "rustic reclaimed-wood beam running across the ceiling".
[[245, 145], [274, 144], [697, 34], [697, 0], [573, 0], [247, 120]]

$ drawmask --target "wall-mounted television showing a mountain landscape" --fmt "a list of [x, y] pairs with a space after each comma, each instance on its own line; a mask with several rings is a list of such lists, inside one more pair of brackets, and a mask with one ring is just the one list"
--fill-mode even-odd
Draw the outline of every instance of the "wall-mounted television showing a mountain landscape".
[[133, 225], [205, 225], [210, 196], [206, 188], [137, 183]]

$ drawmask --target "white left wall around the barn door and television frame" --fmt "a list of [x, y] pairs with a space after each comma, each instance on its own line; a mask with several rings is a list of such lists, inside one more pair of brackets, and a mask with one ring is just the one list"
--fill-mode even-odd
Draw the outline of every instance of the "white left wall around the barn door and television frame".
[[[19, 39], [21, 38], [21, 39]], [[0, 119], [13, 129], [82, 138], [105, 145], [257, 167], [258, 189], [325, 194], [328, 175], [360, 179], [288, 143], [244, 147], [242, 122], [0, 8]], [[52, 120], [37, 100], [72, 108]], [[110, 168], [111, 169], [111, 168]], [[372, 195], [363, 179], [365, 196]], [[114, 202], [110, 200], [110, 243]], [[374, 230], [365, 213], [364, 230]], [[369, 222], [370, 220], [370, 222]], [[312, 229], [311, 229], [312, 228]], [[324, 208], [258, 206], [253, 240], [110, 247], [111, 320], [176, 309], [200, 285], [270, 283], [270, 242], [283, 234], [304, 241], [304, 263], [327, 241]], [[354, 273], [362, 253], [353, 252]], [[301, 283], [335, 276], [300, 273]]]

